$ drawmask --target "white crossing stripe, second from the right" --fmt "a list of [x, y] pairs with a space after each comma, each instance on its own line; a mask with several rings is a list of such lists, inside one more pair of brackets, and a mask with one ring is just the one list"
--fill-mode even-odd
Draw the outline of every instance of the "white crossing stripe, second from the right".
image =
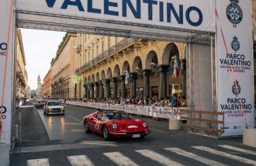
[[238, 155], [231, 155], [227, 152], [222, 152], [222, 151], [217, 151], [213, 148], [208, 148], [206, 146], [191, 146], [192, 148], [196, 148], [198, 150], [201, 150], [201, 151], [206, 151], [208, 153], [212, 153], [214, 155], [222, 155], [223, 157], [225, 158], [230, 158], [232, 160], [237, 160], [239, 162], [243, 162], [243, 163], [247, 163], [249, 165], [256, 165], [256, 161], [255, 160], [250, 160], [250, 159], [247, 159], [247, 158], [241, 158], [240, 156]]

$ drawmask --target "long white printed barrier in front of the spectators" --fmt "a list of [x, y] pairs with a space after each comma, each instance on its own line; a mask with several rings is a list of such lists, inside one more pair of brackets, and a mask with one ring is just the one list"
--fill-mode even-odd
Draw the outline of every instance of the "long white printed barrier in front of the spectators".
[[[177, 118], [181, 119], [181, 115], [185, 116], [186, 113], [180, 111], [187, 108], [172, 108], [172, 107], [161, 107], [161, 106], [136, 106], [126, 104], [105, 104], [105, 103], [93, 103], [93, 102], [73, 102], [67, 101], [66, 104], [74, 106], [85, 106], [93, 109], [107, 109], [116, 111], [125, 111], [126, 113], [133, 113], [140, 116], [151, 116], [155, 118]], [[177, 117], [176, 117], [177, 116]]]

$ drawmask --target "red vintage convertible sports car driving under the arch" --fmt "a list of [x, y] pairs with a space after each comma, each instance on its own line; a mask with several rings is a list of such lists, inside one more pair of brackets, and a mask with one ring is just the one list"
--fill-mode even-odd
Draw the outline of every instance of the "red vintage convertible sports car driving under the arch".
[[143, 138], [150, 133], [144, 120], [132, 119], [124, 111], [96, 111], [83, 117], [82, 123], [86, 133], [102, 134], [105, 140], [112, 137]]

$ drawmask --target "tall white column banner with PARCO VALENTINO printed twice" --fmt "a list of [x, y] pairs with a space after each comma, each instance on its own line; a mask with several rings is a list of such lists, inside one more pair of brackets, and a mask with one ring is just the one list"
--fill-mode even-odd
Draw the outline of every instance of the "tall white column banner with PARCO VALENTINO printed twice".
[[254, 127], [251, 6], [251, 0], [217, 0], [217, 108], [224, 112], [223, 137]]

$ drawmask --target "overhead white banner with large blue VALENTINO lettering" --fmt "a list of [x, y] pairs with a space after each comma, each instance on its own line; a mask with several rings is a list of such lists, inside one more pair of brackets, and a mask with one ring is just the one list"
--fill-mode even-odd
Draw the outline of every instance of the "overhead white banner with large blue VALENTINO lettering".
[[[214, 0], [17, 0], [18, 11], [34, 12], [34, 15], [50, 13], [51, 16], [119, 23], [116, 26], [161, 26], [186, 32], [189, 29], [215, 32], [214, 8]], [[121, 29], [128, 30], [127, 27]]]

